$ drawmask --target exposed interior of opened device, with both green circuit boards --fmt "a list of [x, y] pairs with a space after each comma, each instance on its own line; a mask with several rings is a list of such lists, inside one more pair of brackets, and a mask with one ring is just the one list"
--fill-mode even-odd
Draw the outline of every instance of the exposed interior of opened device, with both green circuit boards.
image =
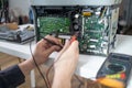
[[111, 21], [114, 12], [109, 7], [38, 6], [33, 10], [37, 41], [47, 34], [69, 38], [78, 33], [81, 54], [107, 55], [114, 47], [118, 22]]

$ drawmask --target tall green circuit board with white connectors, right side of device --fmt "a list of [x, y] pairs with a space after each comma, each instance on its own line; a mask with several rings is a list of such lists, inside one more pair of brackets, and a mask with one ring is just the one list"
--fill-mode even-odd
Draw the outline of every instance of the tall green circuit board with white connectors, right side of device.
[[79, 38], [80, 53], [107, 54], [105, 22], [96, 15], [84, 16], [82, 38]]

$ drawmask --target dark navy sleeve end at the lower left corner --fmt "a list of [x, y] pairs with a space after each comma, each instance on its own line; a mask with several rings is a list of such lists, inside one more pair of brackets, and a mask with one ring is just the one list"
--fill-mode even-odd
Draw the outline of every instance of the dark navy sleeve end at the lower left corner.
[[18, 65], [0, 72], [0, 88], [15, 88], [25, 81]]

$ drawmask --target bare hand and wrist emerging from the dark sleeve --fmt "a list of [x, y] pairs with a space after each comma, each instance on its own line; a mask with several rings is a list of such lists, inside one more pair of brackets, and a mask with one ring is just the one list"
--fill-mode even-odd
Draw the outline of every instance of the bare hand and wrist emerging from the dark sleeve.
[[[47, 35], [45, 36], [45, 38], [47, 38], [48, 41], [52, 41], [57, 45], [53, 45], [46, 40], [41, 40], [36, 44], [35, 51], [33, 53], [33, 57], [37, 65], [43, 64], [48, 58], [50, 54], [52, 54], [54, 51], [61, 51], [61, 47], [58, 45], [63, 46], [61, 42], [53, 36]], [[33, 57], [31, 59], [26, 59], [25, 62], [19, 64], [19, 67], [21, 72], [24, 74], [24, 76], [29, 74], [33, 68], [36, 67]]]

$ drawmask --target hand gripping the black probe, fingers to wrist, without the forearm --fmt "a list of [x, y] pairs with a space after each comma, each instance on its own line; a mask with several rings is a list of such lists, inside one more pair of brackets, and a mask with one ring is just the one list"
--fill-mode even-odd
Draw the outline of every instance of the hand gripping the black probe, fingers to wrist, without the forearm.
[[[45, 38], [54, 42], [55, 44], [63, 46], [57, 38], [51, 35], [45, 36]], [[41, 40], [40, 42], [37, 42], [33, 55], [34, 55], [35, 62], [37, 63], [37, 65], [40, 65], [44, 63], [53, 52], [55, 51], [58, 52], [61, 50], [62, 48], [59, 46], [53, 45], [46, 40]]]

